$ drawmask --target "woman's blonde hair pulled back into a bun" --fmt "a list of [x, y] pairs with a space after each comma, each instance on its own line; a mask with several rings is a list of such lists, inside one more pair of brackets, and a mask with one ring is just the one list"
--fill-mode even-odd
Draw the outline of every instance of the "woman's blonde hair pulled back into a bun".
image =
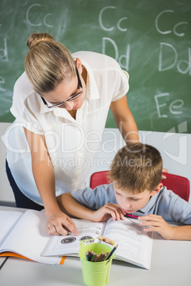
[[26, 74], [39, 94], [55, 90], [76, 74], [71, 53], [48, 33], [33, 33], [26, 44], [30, 49], [25, 58]]

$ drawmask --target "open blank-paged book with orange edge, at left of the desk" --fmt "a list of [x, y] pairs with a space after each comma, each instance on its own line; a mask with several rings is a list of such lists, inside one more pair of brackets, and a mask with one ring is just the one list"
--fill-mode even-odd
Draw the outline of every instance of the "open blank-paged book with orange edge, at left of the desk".
[[42, 256], [51, 239], [51, 235], [46, 232], [45, 213], [33, 210], [25, 213], [0, 211], [0, 226], [0, 255], [24, 256], [38, 263], [62, 264], [60, 255]]

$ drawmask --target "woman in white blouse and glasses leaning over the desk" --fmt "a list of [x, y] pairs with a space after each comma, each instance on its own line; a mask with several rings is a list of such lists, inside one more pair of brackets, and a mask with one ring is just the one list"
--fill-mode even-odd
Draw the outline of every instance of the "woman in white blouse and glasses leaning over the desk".
[[128, 107], [128, 73], [108, 55], [71, 54], [48, 33], [28, 41], [25, 72], [14, 85], [11, 113], [16, 117], [4, 135], [6, 171], [21, 208], [45, 208], [47, 231], [77, 233], [56, 201], [84, 187], [108, 116], [113, 112], [125, 142], [138, 142]]

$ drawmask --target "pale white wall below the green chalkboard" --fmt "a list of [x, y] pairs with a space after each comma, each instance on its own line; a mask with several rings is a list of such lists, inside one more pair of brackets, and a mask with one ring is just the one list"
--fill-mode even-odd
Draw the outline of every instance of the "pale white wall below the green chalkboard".
[[[0, 123], [0, 137], [10, 123]], [[163, 132], [140, 131], [140, 142], [151, 144], [158, 148], [164, 161], [164, 167], [169, 173], [185, 176], [191, 182], [191, 134], [175, 134]], [[115, 153], [124, 146], [124, 141], [118, 129], [105, 129], [103, 143], [98, 157], [92, 157], [92, 168], [86, 179], [86, 186], [94, 171], [108, 170]], [[6, 148], [0, 140], [0, 204], [14, 203], [14, 195], [6, 177]], [[190, 196], [191, 203], [191, 196]]]

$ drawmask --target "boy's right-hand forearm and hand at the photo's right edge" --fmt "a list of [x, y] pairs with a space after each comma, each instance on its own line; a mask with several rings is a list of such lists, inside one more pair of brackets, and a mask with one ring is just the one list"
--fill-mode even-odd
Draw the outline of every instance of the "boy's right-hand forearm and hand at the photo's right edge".
[[138, 218], [144, 231], [156, 231], [168, 240], [191, 240], [191, 226], [170, 226], [161, 216], [149, 214]]

